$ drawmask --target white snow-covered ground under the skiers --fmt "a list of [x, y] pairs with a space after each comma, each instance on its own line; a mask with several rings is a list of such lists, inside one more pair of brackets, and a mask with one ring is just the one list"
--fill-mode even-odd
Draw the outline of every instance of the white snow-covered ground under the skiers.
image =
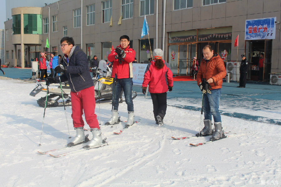
[[[113, 128], [102, 125], [102, 137], [107, 137], [108, 146], [53, 158], [37, 151], [59, 148], [69, 142], [64, 108], [46, 109], [39, 147], [44, 108], [38, 106], [37, 99], [46, 93], [29, 96], [35, 83], [23, 80], [2, 78], [0, 85], [0, 186], [281, 186], [280, 125], [222, 115], [224, 131], [230, 131], [229, 137], [191, 147], [190, 143], [204, 142], [209, 137], [172, 140], [171, 136], [189, 137], [197, 133], [200, 112], [168, 106], [164, 126], [158, 127], [150, 97], [144, 98], [139, 93], [134, 99], [135, 120], [139, 123], [121, 135], [113, 132], [119, 132], [124, 122]], [[200, 103], [184, 102], [187, 101], [168, 100], [170, 105], [194, 103], [194, 107], [200, 107]], [[251, 102], [244, 105], [250, 106]], [[109, 103], [100, 103], [101, 124], [111, 116]], [[220, 109], [236, 111], [227, 104], [221, 99]], [[277, 101], [273, 104], [280, 107]], [[251, 110], [241, 107], [239, 113]], [[71, 136], [75, 136], [71, 107], [66, 111]], [[270, 117], [281, 119], [280, 110], [279, 113], [266, 111], [274, 113]], [[259, 111], [261, 116], [262, 112]], [[96, 114], [99, 116], [98, 103]], [[120, 104], [119, 115], [121, 120], [126, 120], [126, 103]]]

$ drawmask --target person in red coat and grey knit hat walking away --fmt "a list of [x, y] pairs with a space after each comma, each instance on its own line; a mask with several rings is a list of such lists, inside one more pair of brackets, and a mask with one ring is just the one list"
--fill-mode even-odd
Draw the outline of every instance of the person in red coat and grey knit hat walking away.
[[172, 91], [173, 73], [170, 65], [162, 60], [163, 51], [155, 49], [153, 60], [147, 65], [142, 83], [142, 93], [145, 94], [149, 84], [149, 92], [153, 103], [154, 118], [159, 126], [163, 126], [163, 118], [167, 110], [167, 91]]

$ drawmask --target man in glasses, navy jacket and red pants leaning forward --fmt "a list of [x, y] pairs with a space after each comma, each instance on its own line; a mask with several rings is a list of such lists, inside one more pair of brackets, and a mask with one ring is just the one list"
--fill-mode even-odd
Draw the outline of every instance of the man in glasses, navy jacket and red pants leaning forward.
[[[71, 92], [71, 117], [76, 130], [76, 137], [71, 139], [68, 146], [74, 146], [85, 141], [83, 110], [85, 119], [91, 128], [93, 138], [87, 142], [87, 147], [96, 147], [102, 144], [101, 129], [95, 114], [96, 100], [94, 83], [88, 68], [86, 54], [79, 46], [75, 46], [72, 37], [63, 37], [60, 48], [64, 56], [62, 65], [55, 67], [56, 73], [63, 73], [60, 76], [62, 82], [68, 80]], [[59, 82], [59, 77], [48, 78], [46, 84]]]

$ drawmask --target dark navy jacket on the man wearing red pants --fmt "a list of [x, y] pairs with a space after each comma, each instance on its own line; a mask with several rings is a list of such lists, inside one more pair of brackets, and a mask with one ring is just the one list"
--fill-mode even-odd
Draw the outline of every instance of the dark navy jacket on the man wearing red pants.
[[[69, 57], [67, 55], [63, 56], [62, 65], [67, 66], [67, 71], [61, 76], [61, 82], [68, 80], [72, 92], [78, 92], [94, 86], [87, 56], [80, 47], [73, 46]], [[58, 77], [56, 77], [56, 80], [58, 80]]]

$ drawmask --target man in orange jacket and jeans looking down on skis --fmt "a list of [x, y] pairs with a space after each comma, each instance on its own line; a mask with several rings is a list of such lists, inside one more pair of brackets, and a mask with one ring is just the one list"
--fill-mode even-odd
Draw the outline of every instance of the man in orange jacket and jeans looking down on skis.
[[[204, 59], [200, 64], [197, 74], [197, 84], [199, 85], [203, 98], [204, 125], [200, 134], [212, 134], [212, 116], [214, 117], [215, 131], [210, 140], [224, 137], [222, 131], [221, 117], [219, 113], [219, 98], [221, 94], [222, 79], [226, 75], [224, 61], [217, 53], [214, 53], [212, 46], [203, 48]], [[206, 81], [204, 81], [206, 80]], [[206, 86], [207, 85], [207, 86]]]

